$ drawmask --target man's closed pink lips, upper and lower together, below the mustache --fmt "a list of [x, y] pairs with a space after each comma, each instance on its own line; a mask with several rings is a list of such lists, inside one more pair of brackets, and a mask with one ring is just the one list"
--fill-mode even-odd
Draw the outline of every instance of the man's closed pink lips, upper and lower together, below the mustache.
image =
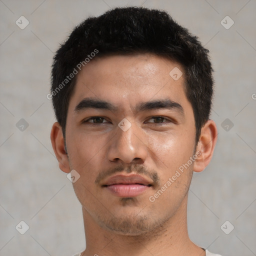
[[108, 178], [102, 185], [111, 193], [120, 197], [134, 197], [150, 189], [151, 182], [138, 174], [114, 175]]

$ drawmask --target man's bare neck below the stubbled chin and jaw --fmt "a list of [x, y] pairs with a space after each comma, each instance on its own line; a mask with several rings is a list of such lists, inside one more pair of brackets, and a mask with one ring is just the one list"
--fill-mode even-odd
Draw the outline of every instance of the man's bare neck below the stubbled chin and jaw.
[[123, 235], [100, 227], [83, 208], [86, 249], [82, 256], [204, 256], [188, 237], [187, 195], [176, 213], [158, 229], [141, 235]]

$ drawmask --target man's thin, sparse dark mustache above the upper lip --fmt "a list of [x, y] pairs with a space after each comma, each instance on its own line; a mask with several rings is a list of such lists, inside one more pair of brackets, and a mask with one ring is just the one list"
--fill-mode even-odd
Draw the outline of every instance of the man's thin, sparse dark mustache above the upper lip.
[[159, 186], [159, 176], [157, 174], [157, 172], [153, 169], [149, 170], [148, 168], [146, 168], [145, 166], [141, 165], [141, 164], [129, 164], [128, 166], [125, 165], [118, 165], [116, 167], [104, 170], [99, 172], [99, 174], [97, 175], [96, 179], [95, 179], [95, 183], [98, 184], [102, 179], [107, 178], [108, 176], [111, 176], [115, 173], [124, 171], [125, 173], [136, 173], [136, 174], [143, 174], [149, 178], [151, 178], [153, 180], [152, 185], [157, 187]]

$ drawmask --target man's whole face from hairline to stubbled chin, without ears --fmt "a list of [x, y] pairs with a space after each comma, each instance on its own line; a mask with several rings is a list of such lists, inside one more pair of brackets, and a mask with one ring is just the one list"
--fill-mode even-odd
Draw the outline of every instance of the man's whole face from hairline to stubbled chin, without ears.
[[141, 234], [184, 205], [195, 124], [183, 76], [169, 75], [174, 67], [182, 70], [151, 54], [113, 55], [77, 76], [66, 120], [69, 169], [80, 175], [73, 187], [83, 210], [104, 229]]

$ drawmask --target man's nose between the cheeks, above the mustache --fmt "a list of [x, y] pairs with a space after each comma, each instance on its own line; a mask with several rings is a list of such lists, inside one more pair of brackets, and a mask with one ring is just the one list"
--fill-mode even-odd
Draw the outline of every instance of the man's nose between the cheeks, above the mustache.
[[116, 129], [107, 150], [108, 159], [120, 163], [143, 163], [148, 152], [143, 131], [135, 123], [125, 131], [119, 126]]

